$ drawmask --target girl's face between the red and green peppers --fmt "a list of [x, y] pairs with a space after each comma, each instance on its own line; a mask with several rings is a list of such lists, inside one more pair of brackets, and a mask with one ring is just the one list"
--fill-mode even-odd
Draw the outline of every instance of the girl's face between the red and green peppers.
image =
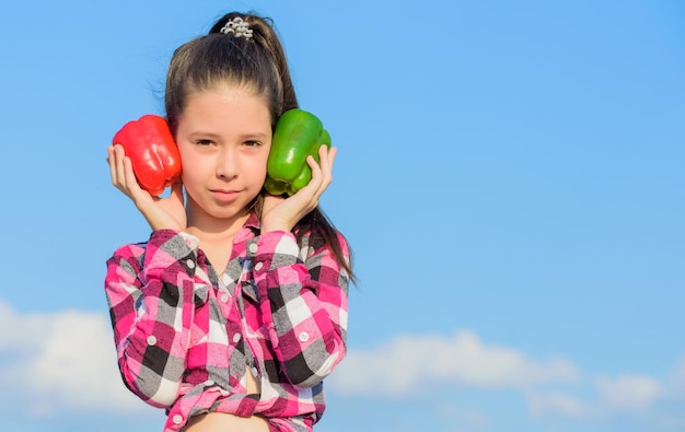
[[234, 86], [193, 94], [178, 118], [176, 143], [188, 222], [246, 217], [264, 185], [271, 147], [266, 101]]

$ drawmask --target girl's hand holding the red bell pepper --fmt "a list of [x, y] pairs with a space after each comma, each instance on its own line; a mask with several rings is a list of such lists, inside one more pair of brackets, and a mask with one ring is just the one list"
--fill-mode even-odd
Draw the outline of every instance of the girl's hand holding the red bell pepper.
[[107, 153], [112, 184], [133, 201], [153, 231], [186, 229], [183, 184], [173, 185], [169, 198], [153, 197], [138, 186], [131, 160], [124, 154], [121, 145], [111, 145]]

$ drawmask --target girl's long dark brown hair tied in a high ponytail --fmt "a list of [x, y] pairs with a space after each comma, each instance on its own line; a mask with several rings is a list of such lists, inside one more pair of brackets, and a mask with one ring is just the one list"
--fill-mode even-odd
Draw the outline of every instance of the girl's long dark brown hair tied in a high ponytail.
[[[236, 17], [242, 19], [252, 31], [251, 37], [221, 33], [224, 25]], [[286, 52], [270, 19], [231, 12], [217, 21], [208, 35], [176, 49], [166, 75], [164, 98], [172, 132], [176, 133], [188, 96], [227, 84], [264, 97], [270, 109], [271, 130], [282, 113], [298, 107]], [[253, 203], [259, 215], [264, 194], [263, 190]], [[321, 208], [302, 218], [293, 233], [298, 242], [309, 233], [314, 244], [325, 242], [330, 245], [337, 261], [355, 281], [351, 261], [345, 259], [338, 233]]]

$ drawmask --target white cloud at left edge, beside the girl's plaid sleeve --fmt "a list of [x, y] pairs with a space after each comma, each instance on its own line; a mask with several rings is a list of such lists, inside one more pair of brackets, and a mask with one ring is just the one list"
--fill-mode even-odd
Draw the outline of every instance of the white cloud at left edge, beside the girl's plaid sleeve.
[[[124, 386], [105, 314], [19, 314], [0, 300], [0, 381], [33, 416], [58, 410], [136, 412], [146, 405]], [[7, 387], [5, 387], [7, 386]], [[22, 409], [24, 409], [22, 408]]]

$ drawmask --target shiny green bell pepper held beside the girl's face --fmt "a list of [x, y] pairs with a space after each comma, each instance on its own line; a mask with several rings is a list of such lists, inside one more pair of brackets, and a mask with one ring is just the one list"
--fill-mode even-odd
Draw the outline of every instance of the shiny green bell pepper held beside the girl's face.
[[264, 188], [271, 195], [294, 195], [302, 189], [312, 179], [306, 156], [318, 163], [318, 149], [324, 144], [330, 149], [330, 135], [315, 115], [298, 108], [283, 113], [274, 130]]

